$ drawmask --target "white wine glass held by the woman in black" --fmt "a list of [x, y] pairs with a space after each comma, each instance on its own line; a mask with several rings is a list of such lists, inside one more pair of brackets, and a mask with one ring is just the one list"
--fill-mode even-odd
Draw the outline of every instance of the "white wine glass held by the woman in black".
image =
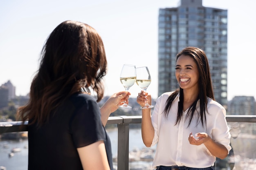
[[[121, 81], [121, 84], [123, 84], [125, 90], [128, 91], [129, 88], [136, 81], [136, 68], [134, 65], [130, 65], [130, 64], [123, 65], [121, 75], [120, 75], [120, 81]], [[124, 104], [120, 105], [120, 107], [132, 108], [131, 106], [128, 106], [126, 104], [126, 101], [124, 101]]]

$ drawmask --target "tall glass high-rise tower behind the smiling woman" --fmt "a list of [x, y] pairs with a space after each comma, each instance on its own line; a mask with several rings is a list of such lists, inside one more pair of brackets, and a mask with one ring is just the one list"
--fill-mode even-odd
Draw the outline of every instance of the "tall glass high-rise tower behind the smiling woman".
[[202, 6], [202, 0], [180, 0], [178, 7], [159, 9], [158, 95], [178, 88], [176, 54], [195, 46], [207, 54], [214, 97], [227, 106], [227, 10]]

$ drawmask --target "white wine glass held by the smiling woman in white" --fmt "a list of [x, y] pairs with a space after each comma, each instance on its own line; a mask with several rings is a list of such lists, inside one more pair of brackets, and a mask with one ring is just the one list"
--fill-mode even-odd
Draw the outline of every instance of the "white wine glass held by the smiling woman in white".
[[[137, 67], [136, 68], [136, 84], [146, 93], [146, 90], [151, 83], [151, 77], [147, 66]], [[145, 106], [141, 107], [141, 109], [145, 108], [153, 108], [154, 106], [149, 105], [148, 101], [145, 102]]]

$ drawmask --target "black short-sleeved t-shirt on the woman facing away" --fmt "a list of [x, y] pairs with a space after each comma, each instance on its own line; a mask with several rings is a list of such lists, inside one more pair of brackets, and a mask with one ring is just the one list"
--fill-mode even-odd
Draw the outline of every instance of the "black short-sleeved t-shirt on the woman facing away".
[[96, 100], [74, 94], [41, 127], [28, 126], [29, 170], [83, 170], [76, 148], [103, 140], [110, 169], [111, 143]]

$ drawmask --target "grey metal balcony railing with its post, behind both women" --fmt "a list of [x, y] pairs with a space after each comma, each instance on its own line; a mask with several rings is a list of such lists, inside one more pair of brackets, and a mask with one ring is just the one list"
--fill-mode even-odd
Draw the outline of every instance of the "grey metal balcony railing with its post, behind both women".
[[[227, 115], [227, 122], [256, 122], [256, 115]], [[141, 116], [109, 117], [107, 124], [117, 124], [117, 168], [129, 169], [129, 126], [141, 123]], [[7, 132], [27, 131], [27, 124], [21, 121], [0, 122], [0, 135]]]

